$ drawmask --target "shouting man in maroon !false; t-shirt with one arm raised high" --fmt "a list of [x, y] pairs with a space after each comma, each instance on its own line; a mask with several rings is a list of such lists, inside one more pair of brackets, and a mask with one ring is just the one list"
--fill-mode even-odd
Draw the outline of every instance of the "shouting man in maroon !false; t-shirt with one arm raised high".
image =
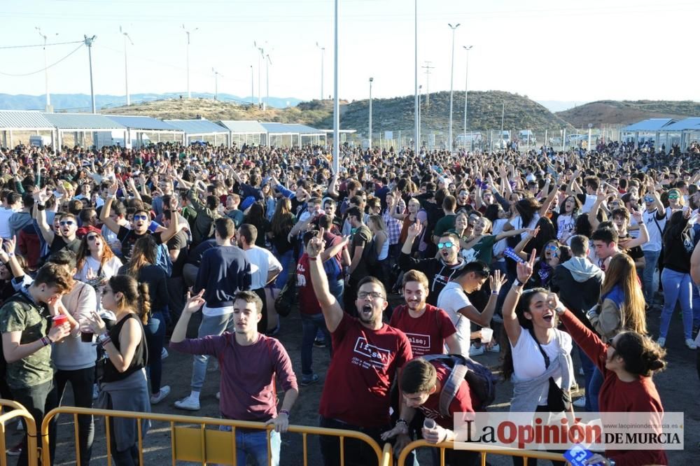
[[[373, 276], [358, 283], [358, 317], [343, 312], [328, 291], [328, 279], [318, 260], [324, 246], [321, 229], [307, 244], [311, 283], [333, 345], [319, 407], [321, 427], [361, 430], [381, 444], [381, 432], [391, 425], [391, 385], [398, 369], [413, 357], [411, 345], [403, 332], [381, 322], [387, 306], [386, 290]], [[339, 465], [339, 439], [321, 436], [320, 442], [324, 464]], [[365, 442], [344, 440], [346, 465], [376, 465], [377, 459]]]

